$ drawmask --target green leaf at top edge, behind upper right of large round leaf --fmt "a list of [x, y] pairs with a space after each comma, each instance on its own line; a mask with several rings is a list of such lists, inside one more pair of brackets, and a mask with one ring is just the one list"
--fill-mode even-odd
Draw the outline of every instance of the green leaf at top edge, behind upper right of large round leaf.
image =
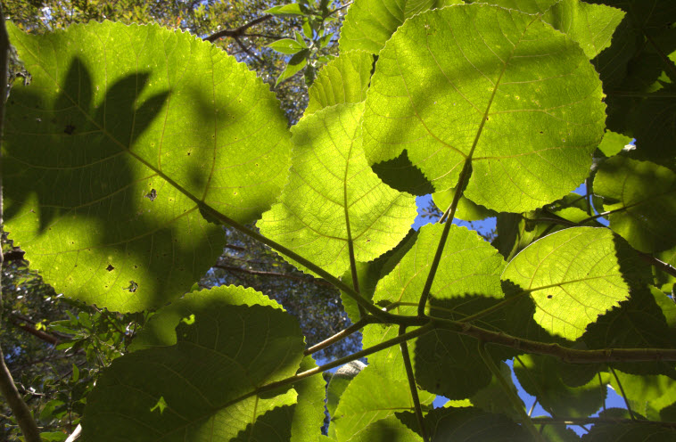
[[589, 59], [610, 45], [614, 30], [624, 17], [620, 9], [581, 0], [487, 0], [481, 3], [540, 14], [542, 21], [576, 41]]

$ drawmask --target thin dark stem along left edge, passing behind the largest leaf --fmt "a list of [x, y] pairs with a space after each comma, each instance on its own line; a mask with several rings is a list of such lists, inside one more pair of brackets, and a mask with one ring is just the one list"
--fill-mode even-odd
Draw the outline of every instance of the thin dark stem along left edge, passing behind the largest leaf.
[[[0, 136], [4, 128], [4, 102], [7, 98], [7, 69], [9, 58], [10, 42], [7, 30], [4, 28], [4, 12], [0, 6]], [[0, 138], [1, 139], [1, 138]], [[3, 223], [3, 195], [2, 195], [2, 176], [0, 176], [0, 225]], [[3, 264], [2, 246], [0, 246], [0, 268]], [[0, 277], [2, 274], [0, 274]], [[0, 317], [3, 311], [2, 281], [0, 280]], [[19, 428], [26, 442], [40, 442], [40, 430], [37, 423], [30, 413], [29, 406], [23, 402], [19, 390], [14, 384], [12, 373], [4, 364], [3, 349], [0, 348], [0, 392], [3, 394], [7, 405], [9, 405], [16, 422], [19, 422]]]

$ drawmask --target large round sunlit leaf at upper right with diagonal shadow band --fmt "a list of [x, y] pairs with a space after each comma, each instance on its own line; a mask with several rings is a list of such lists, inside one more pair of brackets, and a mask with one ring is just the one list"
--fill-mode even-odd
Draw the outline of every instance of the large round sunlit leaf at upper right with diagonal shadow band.
[[605, 127], [602, 99], [579, 45], [537, 16], [485, 4], [424, 12], [397, 30], [376, 63], [367, 159], [407, 149], [441, 191], [456, 186], [471, 156], [470, 200], [535, 209], [589, 174]]

